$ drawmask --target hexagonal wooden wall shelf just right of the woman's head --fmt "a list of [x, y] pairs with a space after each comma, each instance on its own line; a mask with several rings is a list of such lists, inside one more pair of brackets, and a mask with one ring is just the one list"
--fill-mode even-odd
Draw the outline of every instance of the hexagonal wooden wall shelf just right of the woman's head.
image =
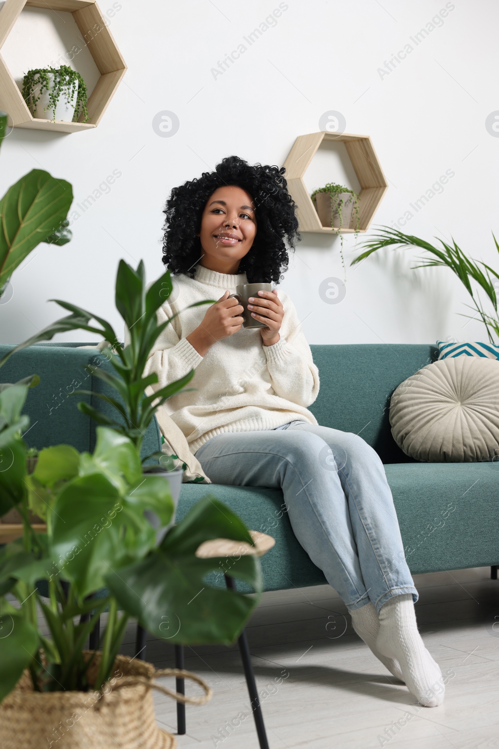
[[298, 136], [284, 162], [287, 187], [298, 208], [300, 231], [314, 231], [320, 234], [355, 232], [355, 229], [351, 228], [335, 229], [332, 226], [322, 226], [312, 198], [304, 184], [303, 175], [324, 140], [340, 141], [345, 144], [346, 153], [361, 185], [361, 192], [358, 196], [358, 231], [367, 231], [388, 189], [388, 182], [374, 151], [373, 143], [369, 136], [327, 132]]

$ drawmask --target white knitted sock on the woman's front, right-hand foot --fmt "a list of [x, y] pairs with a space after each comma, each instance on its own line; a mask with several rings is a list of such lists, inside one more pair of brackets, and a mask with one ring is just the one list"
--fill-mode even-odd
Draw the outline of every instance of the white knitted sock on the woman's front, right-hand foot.
[[410, 593], [394, 595], [379, 612], [379, 652], [397, 658], [408, 691], [425, 707], [444, 701], [441, 670], [426, 650], [417, 631], [416, 613]]

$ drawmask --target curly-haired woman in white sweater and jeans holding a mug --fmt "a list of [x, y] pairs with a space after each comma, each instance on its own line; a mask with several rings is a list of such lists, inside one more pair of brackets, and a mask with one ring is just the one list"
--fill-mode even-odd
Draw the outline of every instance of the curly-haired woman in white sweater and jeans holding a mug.
[[[171, 418], [215, 484], [282, 488], [301, 546], [340, 594], [357, 634], [425, 706], [444, 698], [441, 671], [417, 631], [417, 590], [376, 452], [355, 434], [319, 426], [307, 406], [319, 375], [293, 303], [260, 291], [242, 327], [230, 294], [246, 282], [276, 282], [299, 239], [284, 168], [228, 157], [215, 172], [171, 192], [163, 262], [175, 294], [148, 361], [159, 383], [195, 369], [193, 390], [168, 401]], [[334, 397], [334, 392], [331, 393]]]

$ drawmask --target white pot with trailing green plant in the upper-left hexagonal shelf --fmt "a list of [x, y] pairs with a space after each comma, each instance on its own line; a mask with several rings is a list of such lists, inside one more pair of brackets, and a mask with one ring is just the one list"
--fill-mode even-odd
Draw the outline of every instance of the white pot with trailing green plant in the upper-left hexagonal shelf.
[[88, 120], [87, 86], [69, 65], [28, 70], [22, 80], [22, 98], [34, 118], [77, 122], [83, 114], [83, 122]]

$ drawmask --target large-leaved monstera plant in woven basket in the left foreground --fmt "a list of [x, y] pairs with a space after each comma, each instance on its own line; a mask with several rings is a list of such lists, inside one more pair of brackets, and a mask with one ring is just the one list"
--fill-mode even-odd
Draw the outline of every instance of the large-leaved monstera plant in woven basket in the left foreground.
[[[52, 746], [64, 737], [67, 748], [103, 749], [116, 739], [138, 749], [147, 736], [150, 745], [173, 747], [173, 737], [156, 727], [150, 690], [173, 693], [154, 676], [195, 679], [206, 694], [186, 701], [206, 701], [209, 688], [187, 672], [155, 672], [117, 655], [126, 623], [135, 616], [170, 643], [229, 644], [261, 591], [253, 540], [230, 509], [205, 497], [158, 545], [146, 513], [171, 521], [168, 483], [143, 476], [135, 444], [115, 429], [97, 428], [93, 455], [68, 445], [40, 450], [28, 476], [21, 437], [28, 417], [21, 412], [34, 383], [36, 376], [0, 392], [0, 450], [10, 461], [0, 472], [0, 516], [16, 507], [23, 522], [22, 540], [0, 550], [0, 745]], [[46, 533], [36, 532], [30, 509], [46, 520]], [[255, 598], [206, 582], [220, 560], [196, 552], [218, 538], [240, 543], [231, 575], [253, 586]], [[106, 608], [102, 652], [89, 652], [85, 641]]]

